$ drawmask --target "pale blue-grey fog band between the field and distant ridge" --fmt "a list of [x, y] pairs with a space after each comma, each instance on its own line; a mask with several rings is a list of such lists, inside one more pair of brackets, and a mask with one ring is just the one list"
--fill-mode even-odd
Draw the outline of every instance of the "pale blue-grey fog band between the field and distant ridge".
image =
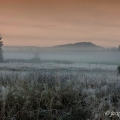
[[[34, 52], [4, 52], [5, 59], [31, 59]], [[73, 62], [120, 63], [118, 51], [39, 51], [41, 60], [68, 60]]]

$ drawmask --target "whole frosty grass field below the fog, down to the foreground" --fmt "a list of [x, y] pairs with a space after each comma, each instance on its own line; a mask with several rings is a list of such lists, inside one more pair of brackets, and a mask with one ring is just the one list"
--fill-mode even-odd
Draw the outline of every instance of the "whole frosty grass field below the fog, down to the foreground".
[[119, 86], [117, 65], [2, 63], [0, 119], [109, 120], [105, 112], [120, 109]]

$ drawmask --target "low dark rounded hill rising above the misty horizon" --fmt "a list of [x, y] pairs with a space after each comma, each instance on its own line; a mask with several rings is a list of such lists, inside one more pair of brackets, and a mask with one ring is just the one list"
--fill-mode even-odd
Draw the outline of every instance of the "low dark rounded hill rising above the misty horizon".
[[53, 46], [53, 48], [71, 49], [71, 50], [105, 50], [104, 47], [97, 46], [91, 42], [78, 42], [75, 44], [58, 45], [58, 46]]

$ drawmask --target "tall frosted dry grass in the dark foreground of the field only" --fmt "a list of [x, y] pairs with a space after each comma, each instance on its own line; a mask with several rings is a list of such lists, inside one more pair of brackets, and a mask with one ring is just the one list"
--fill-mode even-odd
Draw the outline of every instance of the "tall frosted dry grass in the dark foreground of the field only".
[[0, 77], [0, 120], [105, 120], [120, 109], [119, 78], [32, 73]]

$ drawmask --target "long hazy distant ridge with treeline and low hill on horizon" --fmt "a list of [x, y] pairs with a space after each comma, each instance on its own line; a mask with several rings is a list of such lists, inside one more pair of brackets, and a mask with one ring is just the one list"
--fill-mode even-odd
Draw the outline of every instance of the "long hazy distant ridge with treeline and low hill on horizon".
[[3, 51], [62, 51], [62, 50], [106, 50], [104, 47], [97, 46], [91, 42], [78, 42], [74, 44], [64, 44], [64, 45], [57, 45], [53, 47], [37, 47], [37, 46], [3, 46]]

